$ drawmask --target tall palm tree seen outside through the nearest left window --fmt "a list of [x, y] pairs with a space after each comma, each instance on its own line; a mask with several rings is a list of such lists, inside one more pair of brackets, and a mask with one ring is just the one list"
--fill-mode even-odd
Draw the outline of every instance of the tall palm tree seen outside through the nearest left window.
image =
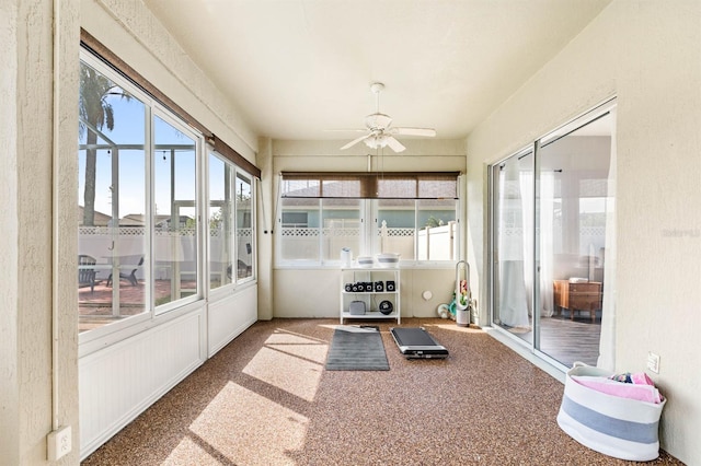
[[93, 128], [108, 130], [114, 129], [114, 109], [107, 101], [110, 95], [120, 95], [124, 98], [131, 96], [113, 83], [110, 79], [99, 73], [85, 63], [80, 63], [80, 97], [79, 116], [80, 133], [85, 135], [85, 189], [83, 193], [83, 225], [93, 226], [95, 223], [95, 178], [97, 160], [97, 135], [87, 125]]

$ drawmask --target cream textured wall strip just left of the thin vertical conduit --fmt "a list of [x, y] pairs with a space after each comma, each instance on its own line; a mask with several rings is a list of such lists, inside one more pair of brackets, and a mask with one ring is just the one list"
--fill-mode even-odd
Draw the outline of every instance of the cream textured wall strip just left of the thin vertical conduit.
[[22, 2], [18, 24], [18, 346], [32, 354], [19, 361], [19, 434], [28, 463], [45, 458], [51, 430], [51, 3]]

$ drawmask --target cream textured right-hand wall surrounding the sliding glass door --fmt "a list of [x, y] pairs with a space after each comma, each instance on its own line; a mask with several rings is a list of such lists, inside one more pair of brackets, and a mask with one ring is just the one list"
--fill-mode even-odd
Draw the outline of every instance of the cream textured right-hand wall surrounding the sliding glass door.
[[612, 2], [470, 135], [470, 251], [485, 296], [486, 164], [614, 94], [617, 369], [662, 356], [663, 447], [699, 464], [701, 3]]

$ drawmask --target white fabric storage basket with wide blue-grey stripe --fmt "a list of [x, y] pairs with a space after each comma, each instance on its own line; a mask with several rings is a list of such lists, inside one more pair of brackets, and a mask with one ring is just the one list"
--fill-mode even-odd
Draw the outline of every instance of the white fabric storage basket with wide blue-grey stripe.
[[558, 424], [581, 444], [621, 459], [647, 462], [659, 456], [660, 404], [597, 392], [573, 375], [608, 377], [610, 372], [575, 362], [567, 371]]

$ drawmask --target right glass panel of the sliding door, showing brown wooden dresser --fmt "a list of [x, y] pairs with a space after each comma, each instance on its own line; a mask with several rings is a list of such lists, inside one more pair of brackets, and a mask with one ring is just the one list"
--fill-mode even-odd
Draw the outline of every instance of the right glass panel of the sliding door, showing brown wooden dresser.
[[604, 261], [611, 162], [605, 115], [543, 143], [539, 156], [540, 325], [538, 348], [572, 366], [596, 365], [604, 313]]

